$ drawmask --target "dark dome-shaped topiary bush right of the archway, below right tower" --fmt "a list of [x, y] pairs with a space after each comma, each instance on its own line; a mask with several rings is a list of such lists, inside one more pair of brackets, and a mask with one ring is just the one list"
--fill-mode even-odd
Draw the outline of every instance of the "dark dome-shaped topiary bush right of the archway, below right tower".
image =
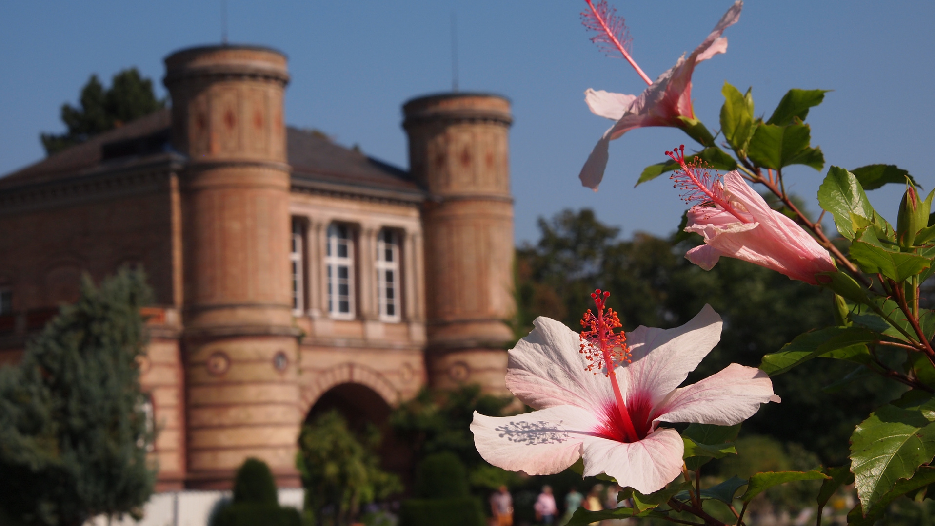
[[428, 455], [419, 464], [416, 496], [403, 501], [399, 526], [484, 526], [481, 502], [469, 496], [468, 471], [457, 455]]

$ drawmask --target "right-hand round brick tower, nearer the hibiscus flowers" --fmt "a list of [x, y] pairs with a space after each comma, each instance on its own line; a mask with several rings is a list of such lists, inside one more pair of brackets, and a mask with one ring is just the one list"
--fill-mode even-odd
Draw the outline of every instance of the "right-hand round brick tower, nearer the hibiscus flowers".
[[513, 302], [510, 101], [446, 93], [403, 107], [410, 170], [432, 194], [424, 258], [431, 384], [504, 392]]

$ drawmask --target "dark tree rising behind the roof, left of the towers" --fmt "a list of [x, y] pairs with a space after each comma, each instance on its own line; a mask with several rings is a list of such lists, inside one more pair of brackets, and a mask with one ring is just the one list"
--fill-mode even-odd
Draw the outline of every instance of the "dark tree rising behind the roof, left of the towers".
[[136, 67], [114, 75], [109, 89], [92, 75], [81, 89], [79, 107], [62, 105], [62, 121], [68, 131], [61, 135], [43, 133], [39, 138], [46, 154], [51, 155], [162, 107], [165, 100], [156, 98], [152, 80], [141, 77]]

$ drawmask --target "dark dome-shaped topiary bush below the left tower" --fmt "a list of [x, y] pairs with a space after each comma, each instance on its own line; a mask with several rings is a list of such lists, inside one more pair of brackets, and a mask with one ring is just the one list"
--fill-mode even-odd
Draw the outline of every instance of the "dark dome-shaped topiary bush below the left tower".
[[234, 478], [234, 502], [224, 506], [212, 526], [301, 526], [299, 511], [281, 507], [276, 481], [266, 462], [247, 459]]

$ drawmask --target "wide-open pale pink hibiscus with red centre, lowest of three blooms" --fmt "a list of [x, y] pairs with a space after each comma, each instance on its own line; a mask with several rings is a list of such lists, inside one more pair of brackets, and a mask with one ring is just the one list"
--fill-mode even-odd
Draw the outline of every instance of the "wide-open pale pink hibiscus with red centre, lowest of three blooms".
[[711, 306], [682, 327], [614, 334], [620, 325], [604, 310], [608, 295], [592, 294], [597, 316], [588, 311], [582, 334], [539, 318], [511, 349], [507, 387], [537, 410], [505, 418], [475, 412], [470, 428], [484, 460], [550, 475], [583, 458], [584, 476], [606, 473], [651, 493], [682, 472], [682, 437], [662, 422], [733, 425], [779, 402], [770, 377], [737, 363], [679, 388], [721, 338]]

